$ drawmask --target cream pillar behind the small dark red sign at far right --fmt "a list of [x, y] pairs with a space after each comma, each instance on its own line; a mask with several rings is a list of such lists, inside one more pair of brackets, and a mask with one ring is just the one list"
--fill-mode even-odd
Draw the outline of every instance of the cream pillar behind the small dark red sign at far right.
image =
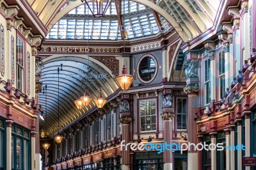
[[[245, 122], [244, 122], [244, 125], [245, 125], [245, 157], [250, 157], [250, 150], [251, 150], [251, 147], [250, 147], [250, 139], [251, 139], [251, 134], [250, 134], [250, 123], [251, 123], [251, 119], [250, 119], [250, 114], [251, 112], [248, 111], [245, 114]], [[250, 166], [246, 166], [245, 167], [246, 170], [250, 170]]]

